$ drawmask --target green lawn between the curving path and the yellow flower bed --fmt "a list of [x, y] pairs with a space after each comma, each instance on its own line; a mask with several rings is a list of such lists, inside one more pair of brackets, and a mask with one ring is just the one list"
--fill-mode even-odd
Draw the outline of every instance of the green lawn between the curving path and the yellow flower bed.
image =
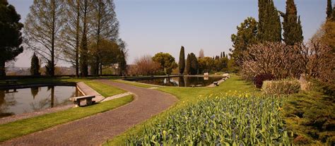
[[259, 90], [257, 90], [254, 85], [245, 82], [245, 80], [242, 80], [237, 75], [232, 75], [230, 79], [221, 83], [218, 87], [158, 87], [158, 90], [175, 95], [175, 97], [180, 99], [179, 102], [177, 102], [177, 104], [170, 109], [163, 111], [163, 113], [153, 116], [153, 118], [150, 118], [147, 121], [134, 126], [134, 128], [130, 128], [125, 133], [118, 135], [112, 140], [109, 140], [104, 145], [125, 145], [124, 142], [126, 142], [127, 136], [142, 133], [145, 126], [150, 125], [154, 121], [164, 120], [167, 116], [169, 116], [169, 114], [176, 111], [176, 109], [183, 107], [185, 103], [196, 102], [196, 99], [199, 96], [206, 97], [214, 95], [218, 92], [229, 91], [246, 92], [251, 95], [259, 94]]

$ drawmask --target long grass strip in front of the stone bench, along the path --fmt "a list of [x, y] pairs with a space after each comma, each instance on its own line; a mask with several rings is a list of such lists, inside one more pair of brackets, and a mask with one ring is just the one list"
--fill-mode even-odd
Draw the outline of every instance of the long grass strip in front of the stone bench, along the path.
[[52, 114], [45, 114], [42, 116], [26, 118], [11, 123], [5, 123], [3, 125], [0, 125], [0, 142], [4, 142], [5, 140], [10, 140], [12, 138], [16, 138], [22, 135], [28, 135], [39, 130], [45, 130], [52, 126], [57, 126], [61, 123], [67, 123], [69, 121], [74, 121], [80, 118], [84, 118], [86, 116], [109, 111], [111, 109], [115, 109], [124, 104], [127, 104], [132, 100], [133, 96], [128, 95], [126, 97], [112, 99], [110, 101], [102, 102], [100, 104], [95, 104], [88, 107], [77, 107]]

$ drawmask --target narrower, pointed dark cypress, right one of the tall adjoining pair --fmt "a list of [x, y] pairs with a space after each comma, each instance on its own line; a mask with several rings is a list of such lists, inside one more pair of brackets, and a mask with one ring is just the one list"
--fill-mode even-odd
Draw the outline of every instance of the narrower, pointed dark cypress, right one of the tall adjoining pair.
[[304, 37], [302, 36], [300, 17], [297, 16], [294, 0], [286, 1], [286, 13], [283, 15], [283, 20], [284, 42], [288, 45], [301, 43]]

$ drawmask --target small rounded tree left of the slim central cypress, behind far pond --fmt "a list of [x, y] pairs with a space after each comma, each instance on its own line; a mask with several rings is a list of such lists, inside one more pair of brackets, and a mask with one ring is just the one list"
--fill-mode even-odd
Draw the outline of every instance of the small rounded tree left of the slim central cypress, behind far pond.
[[153, 61], [160, 63], [160, 67], [162, 68], [162, 71], [165, 71], [165, 68], [172, 68], [175, 63], [175, 57], [171, 56], [168, 53], [160, 52], [158, 54], [155, 54], [153, 56]]

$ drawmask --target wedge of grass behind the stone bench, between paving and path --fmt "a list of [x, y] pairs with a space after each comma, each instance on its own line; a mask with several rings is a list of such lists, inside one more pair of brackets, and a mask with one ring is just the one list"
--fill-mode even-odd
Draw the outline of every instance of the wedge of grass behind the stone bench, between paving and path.
[[110, 85], [105, 85], [104, 83], [96, 82], [96, 81], [86, 81], [86, 85], [92, 87], [93, 90], [97, 91], [103, 97], [111, 97], [113, 95], [119, 95], [124, 92], [125, 90], [119, 89], [117, 87], [113, 87]]

